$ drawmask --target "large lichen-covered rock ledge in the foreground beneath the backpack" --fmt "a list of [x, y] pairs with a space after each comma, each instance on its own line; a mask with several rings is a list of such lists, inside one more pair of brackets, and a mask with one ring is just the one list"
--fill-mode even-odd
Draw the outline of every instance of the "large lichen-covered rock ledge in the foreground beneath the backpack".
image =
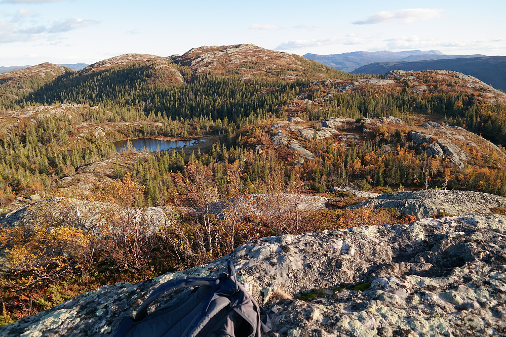
[[161, 282], [214, 276], [232, 259], [270, 336], [506, 335], [506, 216], [268, 237], [208, 265], [118, 283], [0, 328], [1, 336], [112, 335]]

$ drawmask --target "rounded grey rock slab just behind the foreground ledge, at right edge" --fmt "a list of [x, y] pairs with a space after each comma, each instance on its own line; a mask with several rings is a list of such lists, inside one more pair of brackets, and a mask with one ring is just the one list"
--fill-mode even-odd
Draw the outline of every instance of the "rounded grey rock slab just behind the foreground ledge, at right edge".
[[349, 206], [360, 207], [396, 208], [402, 214], [422, 218], [438, 214], [488, 213], [494, 207], [506, 208], [506, 198], [472, 191], [423, 190], [383, 194], [376, 199]]

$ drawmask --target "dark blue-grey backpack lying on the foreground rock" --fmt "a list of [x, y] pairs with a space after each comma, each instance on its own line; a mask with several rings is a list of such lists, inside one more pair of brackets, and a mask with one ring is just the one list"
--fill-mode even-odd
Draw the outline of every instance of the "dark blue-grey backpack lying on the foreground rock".
[[[261, 337], [270, 331], [269, 317], [237, 282], [231, 261], [227, 267], [218, 278], [185, 276], [161, 284], [134, 318], [123, 317], [114, 337]], [[185, 287], [193, 290], [147, 314], [153, 301]]]

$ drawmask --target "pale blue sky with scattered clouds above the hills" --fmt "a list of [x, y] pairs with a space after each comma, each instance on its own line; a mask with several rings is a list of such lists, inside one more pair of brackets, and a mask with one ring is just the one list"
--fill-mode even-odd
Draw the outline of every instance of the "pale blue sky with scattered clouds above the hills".
[[0, 66], [251, 43], [298, 55], [506, 55], [506, 2], [0, 0]]

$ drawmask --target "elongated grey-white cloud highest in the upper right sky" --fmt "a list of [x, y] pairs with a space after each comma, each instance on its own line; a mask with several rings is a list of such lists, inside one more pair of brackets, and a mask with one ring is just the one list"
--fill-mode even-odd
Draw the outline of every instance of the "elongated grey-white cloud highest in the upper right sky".
[[400, 21], [412, 23], [420, 20], [430, 20], [441, 17], [443, 10], [431, 8], [412, 8], [395, 12], [379, 12], [365, 20], [352, 22], [354, 25], [372, 25], [384, 22]]

